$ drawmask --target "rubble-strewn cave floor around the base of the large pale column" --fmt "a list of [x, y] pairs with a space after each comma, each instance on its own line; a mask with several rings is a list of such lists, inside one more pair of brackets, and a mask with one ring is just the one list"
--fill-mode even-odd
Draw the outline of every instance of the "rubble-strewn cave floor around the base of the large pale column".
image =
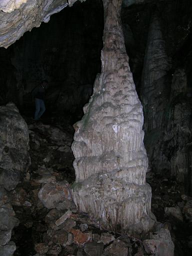
[[192, 200], [184, 195], [180, 184], [166, 174], [147, 173], [153, 192], [152, 211], [161, 221], [150, 239], [141, 241], [100, 230], [86, 214], [76, 211], [71, 199], [74, 181], [71, 123], [64, 118], [43, 120], [43, 123], [34, 123], [31, 118], [25, 120], [31, 166], [23, 182], [10, 192], [19, 219], [11, 237], [16, 244], [15, 256], [162, 255], [162, 239], [168, 243], [164, 256], [169, 256], [172, 245], [167, 230], [175, 244], [175, 255], [190, 254]]

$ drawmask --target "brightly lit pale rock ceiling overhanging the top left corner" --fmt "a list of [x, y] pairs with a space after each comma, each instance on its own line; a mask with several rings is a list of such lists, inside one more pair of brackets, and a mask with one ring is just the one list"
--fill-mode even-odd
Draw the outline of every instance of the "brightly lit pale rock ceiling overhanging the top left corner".
[[[77, 0], [1, 0], [0, 47], [7, 48], [25, 31], [48, 22], [50, 16]], [[83, 0], [80, 0], [81, 2]], [[155, 0], [123, 0], [123, 6]]]

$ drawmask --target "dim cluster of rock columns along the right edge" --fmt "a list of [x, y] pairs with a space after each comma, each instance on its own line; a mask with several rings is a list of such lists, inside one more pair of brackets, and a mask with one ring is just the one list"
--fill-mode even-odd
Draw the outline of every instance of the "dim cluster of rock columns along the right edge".
[[166, 52], [163, 29], [155, 14], [149, 26], [140, 89], [144, 141], [150, 168], [162, 175], [170, 173], [184, 183], [183, 192], [190, 194], [190, 89], [185, 68], [176, 67]]

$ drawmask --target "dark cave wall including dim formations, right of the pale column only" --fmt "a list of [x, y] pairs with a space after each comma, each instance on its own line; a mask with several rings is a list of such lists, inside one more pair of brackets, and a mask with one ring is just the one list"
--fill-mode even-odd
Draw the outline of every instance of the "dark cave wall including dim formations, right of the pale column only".
[[[184, 183], [191, 194], [191, 4], [164, 1], [123, 9], [126, 44], [144, 110], [149, 169]], [[180, 17], [180, 18], [178, 18]], [[136, 24], [140, 25], [136, 25]], [[130, 33], [129, 33], [130, 34]], [[140, 39], [139, 39], [140, 38]]]

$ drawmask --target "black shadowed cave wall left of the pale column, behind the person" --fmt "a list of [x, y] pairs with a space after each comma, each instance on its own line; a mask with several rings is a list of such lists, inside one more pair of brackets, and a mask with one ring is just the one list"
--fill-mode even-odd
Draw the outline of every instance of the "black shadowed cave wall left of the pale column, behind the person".
[[49, 23], [26, 32], [8, 49], [0, 48], [1, 104], [12, 100], [21, 108], [31, 107], [32, 88], [47, 79], [47, 108], [82, 109], [100, 71], [102, 31], [101, 2], [76, 2], [53, 15]]

